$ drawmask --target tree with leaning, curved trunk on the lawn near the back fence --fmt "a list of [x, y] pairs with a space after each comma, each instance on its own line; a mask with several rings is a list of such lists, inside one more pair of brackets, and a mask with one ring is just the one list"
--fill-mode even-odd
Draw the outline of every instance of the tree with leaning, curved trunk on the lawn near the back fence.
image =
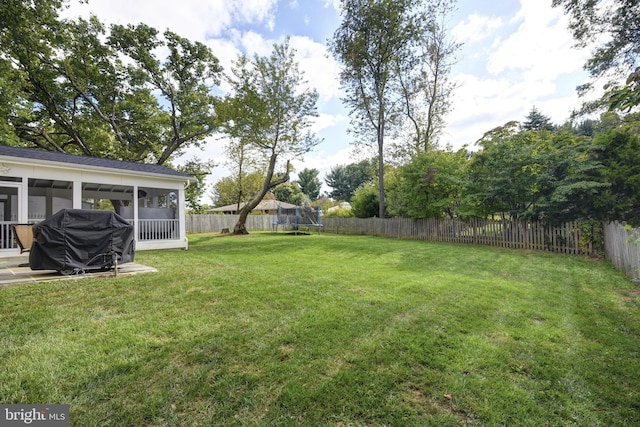
[[[274, 187], [289, 180], [290, 160], [319, 140], [309, 131], [318, 93], [309, 88], [287, 39], [268, 57], [241, 56], [229, 77], [231, 93], [220, 106], [232, 143], [248, 144], [265, 165], [260, 191], [240, 210], [234, 234], [247, 234], [247, 216]], [[276, 172], [276, 168], [281, 168]]]

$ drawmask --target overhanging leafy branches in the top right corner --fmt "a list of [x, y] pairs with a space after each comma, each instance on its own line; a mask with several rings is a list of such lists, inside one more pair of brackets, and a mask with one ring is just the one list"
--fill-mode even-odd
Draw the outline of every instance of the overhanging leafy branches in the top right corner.
[[[553, 0], [569, 15], [569, 28], [580, 48], [596, 44], [585, 69], [592, 81], [608, 80], [605, 101], [613, 108], [630, 109], [640, 103], [640, 4], [637, 0]], [[626, 81], [625, 81], [626, 79]], [[622, 84], [621, 84], [622, 83]], [[596, 106], [599, 103], [596, 103]]]

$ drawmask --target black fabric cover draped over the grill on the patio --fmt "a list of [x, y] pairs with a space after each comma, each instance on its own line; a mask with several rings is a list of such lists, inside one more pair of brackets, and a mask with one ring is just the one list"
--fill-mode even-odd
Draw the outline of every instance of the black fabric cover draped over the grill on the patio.
[[32, 270], [108, 269], [134, 257], [133, 225], [111, 211], [63, 209], [33, 226]]

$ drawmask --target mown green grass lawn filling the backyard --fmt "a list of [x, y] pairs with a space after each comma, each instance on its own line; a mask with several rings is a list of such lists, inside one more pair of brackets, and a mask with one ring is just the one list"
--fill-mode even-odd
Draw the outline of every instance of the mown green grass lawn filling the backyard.
[[0, 402], [76, 426], [640, 424], [640, 293], [606, 262], [194, 235], [159, 273], [0, 290]]

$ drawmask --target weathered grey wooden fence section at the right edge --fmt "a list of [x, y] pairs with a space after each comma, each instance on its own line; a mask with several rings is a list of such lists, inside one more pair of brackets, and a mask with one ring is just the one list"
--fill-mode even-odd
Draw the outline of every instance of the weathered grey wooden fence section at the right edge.
[[610, 222], [604, 226], [607, 258], [627, 277], [640, 280], [640, 232], [626, 230], [624, 224]]

